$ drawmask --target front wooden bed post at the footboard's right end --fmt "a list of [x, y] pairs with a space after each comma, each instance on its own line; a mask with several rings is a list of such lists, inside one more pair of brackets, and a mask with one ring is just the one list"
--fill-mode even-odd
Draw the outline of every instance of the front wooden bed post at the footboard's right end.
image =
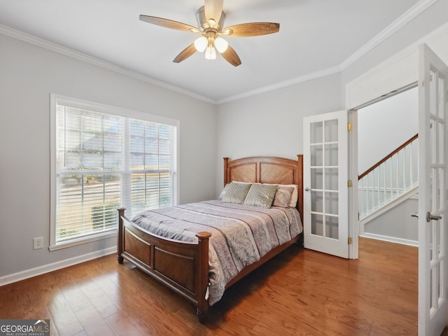
[[210, 232], [199, 232], [196, 235], [199, 244], [199, 283], [197, 283], [197, 310], [199, 321], [204, 323], [209, 311], [209, 300], [205, 297], [209, 286], [209, 238]]

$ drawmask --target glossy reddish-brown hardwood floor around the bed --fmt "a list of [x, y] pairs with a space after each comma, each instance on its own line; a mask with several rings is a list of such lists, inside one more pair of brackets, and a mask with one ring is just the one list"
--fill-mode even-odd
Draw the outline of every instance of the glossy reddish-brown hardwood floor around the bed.
[[116, 257], [0, 287], [0, 318], [49, 318], [52, 335], [417, 335], [416, 247], [360, 239], [360, 259], [291, 246], [211, 307]]

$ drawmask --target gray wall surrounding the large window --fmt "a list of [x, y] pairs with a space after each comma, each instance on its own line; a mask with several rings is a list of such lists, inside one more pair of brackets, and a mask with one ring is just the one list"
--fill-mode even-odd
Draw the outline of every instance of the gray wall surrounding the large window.
[[0, 34], [0, 277], [116, 246], [33, 250], [33, 237], [48, 246], [50, 234], [51, 92], [180, 120], [179, 200], [214, 197], [213, 104]]

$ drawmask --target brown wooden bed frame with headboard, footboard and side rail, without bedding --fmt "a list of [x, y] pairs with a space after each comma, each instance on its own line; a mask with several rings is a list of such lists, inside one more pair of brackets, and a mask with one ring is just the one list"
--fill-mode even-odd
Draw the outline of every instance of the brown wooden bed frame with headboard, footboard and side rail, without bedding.
[[[303, 157], [297, 160], [274, 157], [253, 157], [229, 160], [224, 158], [224, 186], [231, 181], [272, 184], [296, 184], [299, 195], [297, 210], [303, 218]], [[197, 308], [197, 316], [204, 323], [209, 310], [206, 299], [209, 285], [209, 232], [196, 236], [198, 243], [167, 239], [151, 234], [125, 217], [125, 209], [118, 209], [118, 262], [123, 259], [153, 276], [158, 281], [186, 297]], [[225, 288], [262, 265], [291, 244], [303, 241], [302, 235], [293, 237], [262, 256], [258, 262], [246, 266]]]

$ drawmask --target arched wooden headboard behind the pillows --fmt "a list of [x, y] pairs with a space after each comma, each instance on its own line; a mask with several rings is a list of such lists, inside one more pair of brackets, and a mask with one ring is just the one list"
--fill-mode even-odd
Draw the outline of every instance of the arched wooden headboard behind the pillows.
[[[275, 157], [251, 157], [230, 161], [224, 158], [224, 186], [232, 181], [297, 184], [299, 200], [297, 209], [303, 218], [303, 155], [297, 160]], [[302, 219], [303, 221], [303, 219]]]

